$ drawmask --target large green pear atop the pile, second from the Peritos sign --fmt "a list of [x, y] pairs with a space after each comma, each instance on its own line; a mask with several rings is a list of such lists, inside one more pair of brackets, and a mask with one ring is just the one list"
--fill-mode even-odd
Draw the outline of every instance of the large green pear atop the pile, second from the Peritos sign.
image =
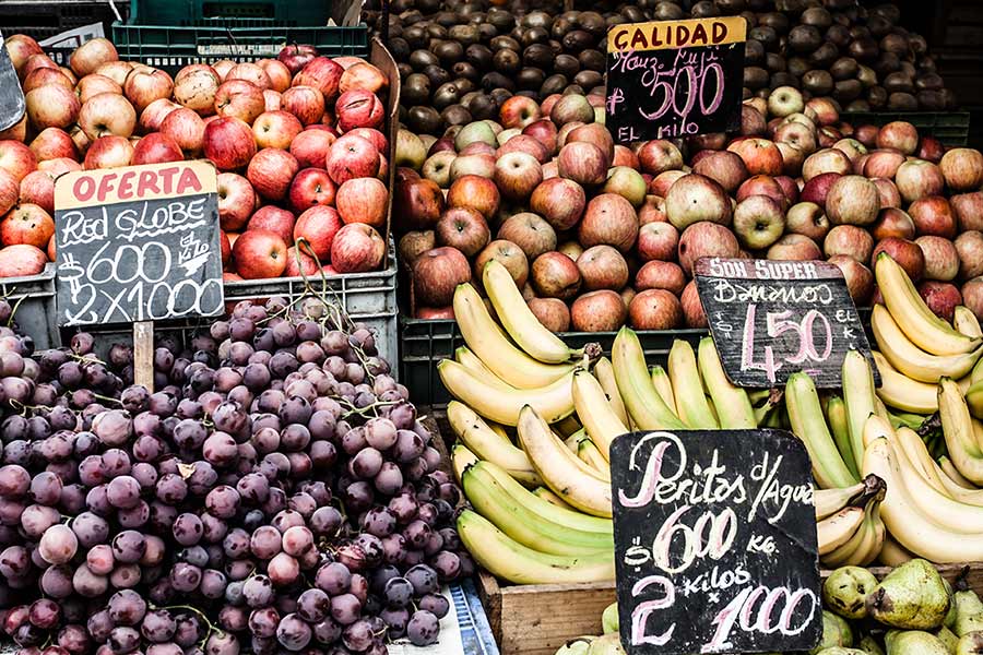
[[949, 604], [945, 581], [923, 559], [910, 560], [891, 571], [867, 594], [866, 600], [867, 616], [885, 626], [905, 630], [938, 628], [949, 611]]

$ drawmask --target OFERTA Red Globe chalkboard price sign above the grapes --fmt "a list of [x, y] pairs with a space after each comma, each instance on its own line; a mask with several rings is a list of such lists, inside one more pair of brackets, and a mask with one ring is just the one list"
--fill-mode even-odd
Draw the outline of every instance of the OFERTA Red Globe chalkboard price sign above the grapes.
[[215, 168], [206, 162], [67, 172], [55, 181], [59, 325], [222, 312]]

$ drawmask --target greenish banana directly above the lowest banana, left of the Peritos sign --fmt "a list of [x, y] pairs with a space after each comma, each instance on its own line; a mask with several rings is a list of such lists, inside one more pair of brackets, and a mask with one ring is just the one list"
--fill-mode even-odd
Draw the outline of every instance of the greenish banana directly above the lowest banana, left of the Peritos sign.
[[475, 511], [512, 539], [533, 550], [553, 555], [592, 555], [614, 549], [614, 538], [546, 521], [529, 511], [487, 473], [464, 472], [464, 495]]

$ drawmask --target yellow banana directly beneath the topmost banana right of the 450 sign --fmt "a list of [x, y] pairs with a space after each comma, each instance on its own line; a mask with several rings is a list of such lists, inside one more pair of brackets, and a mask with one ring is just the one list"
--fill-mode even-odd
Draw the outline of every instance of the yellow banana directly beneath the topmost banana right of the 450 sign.
[[962, 378], [972, 370], [980, 358], [978, 348], [960, 355], [937, 356], [926, 353], [909, 340], [901, 327], [881, 305], [875, 305], [871, 314], [871, 327], [877, 338], [880, 353], [892, 367], [921, 382], [936, 383], [944, 377]]

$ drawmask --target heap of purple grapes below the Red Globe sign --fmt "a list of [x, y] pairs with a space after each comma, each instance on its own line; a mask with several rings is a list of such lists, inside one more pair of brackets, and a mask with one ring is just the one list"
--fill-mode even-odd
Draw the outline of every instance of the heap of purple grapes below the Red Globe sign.
[[22, 655], [438, 639], [441, 586], [474, 570], [460, 491], [369, 330], [240, 302], [158, 340], [154, 393], [129, 347], [93, 346], [32, 357], [0, 327], [0, 628]]

